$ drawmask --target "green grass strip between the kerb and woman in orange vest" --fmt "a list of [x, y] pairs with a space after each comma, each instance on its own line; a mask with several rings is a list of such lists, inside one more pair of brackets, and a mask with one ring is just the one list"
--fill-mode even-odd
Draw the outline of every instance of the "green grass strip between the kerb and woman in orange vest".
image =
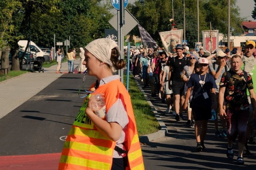
[[[123, 75], [126, 86], [126, 74]], [[160, 130], [160, 125], [144, 94], [139, 90], [132, 75], [129, 76], [129, 94], [131, 96], [133, 111], [139, 136], [151, 134]]]

